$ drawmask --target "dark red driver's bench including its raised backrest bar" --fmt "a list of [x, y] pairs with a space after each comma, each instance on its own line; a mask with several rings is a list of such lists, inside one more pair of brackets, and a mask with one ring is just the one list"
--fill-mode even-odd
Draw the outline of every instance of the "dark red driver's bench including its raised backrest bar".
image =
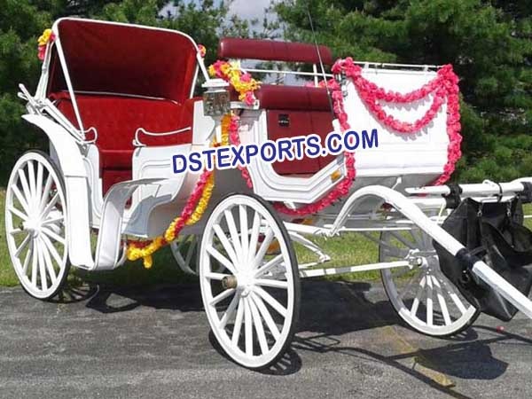
[[[223, 38], [218, 56], [225, 59], [259, 59], [281, 62], [332, 65], [332, 51], [326, 46], [288, 43], [273, 40]], [[233, 93], [234, 96], [234, 93]], [[327, 90], [319, 87], [262, 84], [255, 91], [262, 109], [266, 110], [268, 138], [278, 140], [317, 134], [325, 138], [332, 131], [332, 111]], [[332, 156], [274, 162], [278, 175], [311, 175], [334, 159]]]

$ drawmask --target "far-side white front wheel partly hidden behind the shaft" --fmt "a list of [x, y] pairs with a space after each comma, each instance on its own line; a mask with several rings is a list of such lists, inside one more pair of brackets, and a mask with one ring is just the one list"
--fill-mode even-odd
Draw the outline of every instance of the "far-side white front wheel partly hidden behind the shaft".
[[383, 231], [379, 261], [411, 261], [411, 270], [382, 270], [387, 296], [397, 314], [413, 329], [432, 336], [449, 336], [472, 325], [479, 316], [440, 270], [432, 239], [417, 228]]

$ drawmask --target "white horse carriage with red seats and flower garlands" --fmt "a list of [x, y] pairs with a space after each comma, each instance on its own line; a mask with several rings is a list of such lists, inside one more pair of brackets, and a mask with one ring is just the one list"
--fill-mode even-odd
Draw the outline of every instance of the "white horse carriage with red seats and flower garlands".
[[[532, 178], [444, 185], [461, 140], [450, 66], [334, 61], [325, 46], [225, 38], [207, 68], [205, 49], [184, 33], [71, 18], [56, 21], [39, 48], [35, 95], [20, 85], [20, 98], [50, 151], [20, 157], [5, 201], [12, 264], [35, 298], [59, 293], [70, 265], [113, 270], [142, 258], [150, 267], [171, 245], [178, 264], [200, 276], [216, 340], [256, 369], [278, 361], [293, 338], [300, 278], [380, 270], [399, 317], [433, 336], [462, 331], [480, 310], [497, 313], [493, 301], [509, 317], [516, 309], [532, 317], [526, 267], [517, 283], [503, 278], [492, 252], [470, 242], [475, 220], [479, 237], [496, 236], [482, 209], [522, 228]], [[303, 63], [309, 72], [246, 69], [241, 59]], [[194, 97], [198, 74], [202, 97]], [[261, 84], [252, 74], [308, 81]], [[176, 154], [364, 129], [378, 130], [378, 146], [174, 172]], [[457, 220], [468, 221], [468, 234]], [[329, 256], [311, 237], [345, 232], [376, 242], [379, 262], [326, 267]], [[294, 243], [316, 262], [298, 264]]]

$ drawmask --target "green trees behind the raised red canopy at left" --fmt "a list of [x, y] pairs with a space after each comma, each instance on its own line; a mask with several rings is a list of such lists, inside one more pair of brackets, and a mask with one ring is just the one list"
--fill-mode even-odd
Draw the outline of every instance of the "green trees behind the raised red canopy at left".
[[0, 0], [0, 185], [5, 185], [13, 163], [30, 148], [45, 148], [43, 133], [22, 121], [23, 102], [18, 84], [35, 90], [41, 63], [37, 38], [54, 20], [82, 16], [182, 30], [207, 47], [213, 62], [219, 35], [246, 36], [256, 21], [229, 14], [231, 1], [176, 0], [175, 12], [161, 15], [166, 0]]

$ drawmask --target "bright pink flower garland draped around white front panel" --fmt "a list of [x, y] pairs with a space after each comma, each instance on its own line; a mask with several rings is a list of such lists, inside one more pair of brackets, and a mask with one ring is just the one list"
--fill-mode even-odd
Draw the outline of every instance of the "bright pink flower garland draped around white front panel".
[[[442, 176], [434, 181], [434, 185], [443, 184], [449, 180], [450, 175], [455, 169], [457, 161], [460, 159], [462, 153], [460, 152], [460, 143], [462, 137], [460, 136], [460, 113], [459, 113], [459, 98], [458, 98], [458, 76], [453, 72], [452, 66], [442, 66], [438, 70], [436, 78], [433, 81], [426, 83], [418, 90], [413, 90], [409, 93], [402, 94], [395, 91], [388, 91], [379, 88], [375, 83], [368, 81], [362, 76], [362, 67], [357, 66], [353, 59], [339, 59], [332, 66], [334, 74], [344, 74], [350, 78], [356, 87], [360, 97], [364, 100], [365, 105], [370, 112], [385, 126], [395, 130], [397, 133], [411, 134], [420, 129], [423, 129], [439, 112], [443, 104], [447, 102], [447, 135], [449, 137], [447, 163], [443, 167]], [[326, 83], [331, 90], [333, 101], [333, 110], [340, 122], [342, 130], [349, 130], [348, 114], [345, 112], [343, 106], [343, 95], [341, 93], [340, 84], [334, 79]], [[320, 87], [324, 87], [325, 83], [321, 82]], [[426, 98], [428, 95], [434, 93], [434, 99], [426, 111], [426, 113], [414, 122], [403, 122], [396, 120], [393, 116], [388, 115], [386, 111], [380, 106], [379, 101], [387, 103], [406, 104], [413, 101], [418, 101]], [[233, 145], [239, 145], [239, 117], [233, 115], [230, 125], [230, 139]], [[274, 207], [286, 215], [309, 215], [314, 214], [325, 207], [329, 207], [335, 200], [348, 194], [351, 185], [355, 181], [355, 155], [354, 153], [344, 153], [346, 176], [331, 192], [325, 197], [317, 200], [313, 204], [304, 205], [297, 209], [286, 207], [283, 203], [275, 203]], [[246, 180], [249, 188], [253, 188], [251, 176], [246, 168], [239, 168], [242, 176]]]

